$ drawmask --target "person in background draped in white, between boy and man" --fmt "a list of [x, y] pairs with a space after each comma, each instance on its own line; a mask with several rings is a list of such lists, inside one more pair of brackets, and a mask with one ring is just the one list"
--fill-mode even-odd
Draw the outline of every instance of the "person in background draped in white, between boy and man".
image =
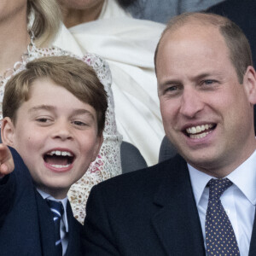
[[63, 26], [54, 44], [77, 55], [94, 52], [108, 61], [118, 131], [139, 149], [148, 166], [154, 165], [164, 137], [154, 49], [164, 26], [133, 19], [120, 5], [125, 1], [58, 2], [68, 30]]

